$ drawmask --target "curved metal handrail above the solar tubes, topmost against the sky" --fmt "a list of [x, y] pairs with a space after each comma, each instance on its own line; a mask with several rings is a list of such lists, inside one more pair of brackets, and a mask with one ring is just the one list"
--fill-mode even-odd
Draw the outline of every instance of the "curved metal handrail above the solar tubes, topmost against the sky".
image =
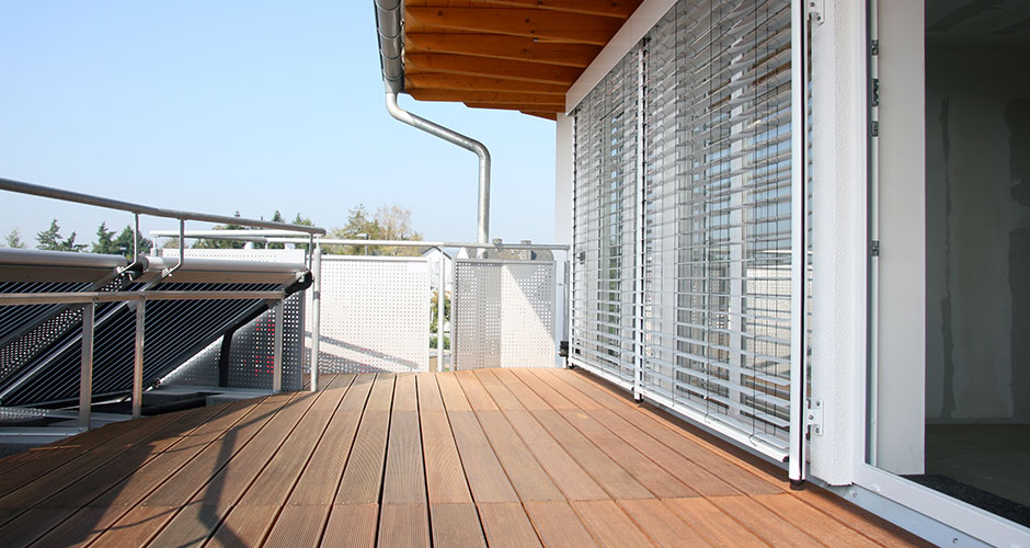
[[220, 222], [225, 225], [242, 225], [248, 227], [266, 228], [272, 230], [288, 231], [289, 233], [308, 233], [312, 236], [325, 235], [325, 229], [321, 227], [309, 227], [305, 225], [288, 225], [285, 222], [273, 222], [263, 219], [249, 219], [245, 217], [230, 217], [228, 215], [210, 215], [196, 212], [183, 212], [178, 209], [165, 209], [163, 207], [151, 207], [121, 199], [111, 199], [81, 192], [65, 191], [50, 186], [14, 181], [12, 179], [0, 178], [0, 190], [15, 192], [19, 194], [30, 194], [64, 202], [75, 202], [78, 204], [105, 207], [107, 209], [119, 209], [137, 215], [149, 215], [151, 217], [164, 217], [179, 220], [199, 220], [204, 222]]

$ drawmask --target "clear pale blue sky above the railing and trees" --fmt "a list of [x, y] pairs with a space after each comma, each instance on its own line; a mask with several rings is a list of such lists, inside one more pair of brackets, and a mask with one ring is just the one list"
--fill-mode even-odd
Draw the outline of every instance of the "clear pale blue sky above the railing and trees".
[[[327, 228], [397, 204], [427, 239], [476, 237], [476, 157], [387, 114], [371, 0], [0, 0], [0, 176]], [[552, 239], [553, 122], [401, 106], [490, 148], [491, 237]], [[30, 244], [54, 217], [78, 241], [131, 220], [2, 191], [0, 204], [0, 236]]]

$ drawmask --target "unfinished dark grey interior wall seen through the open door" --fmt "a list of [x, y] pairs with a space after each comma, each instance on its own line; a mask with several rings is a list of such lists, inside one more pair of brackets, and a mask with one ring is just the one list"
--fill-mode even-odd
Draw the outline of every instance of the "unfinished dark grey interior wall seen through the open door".
[[926, 50], [929, 422], [1030, 422], [1028, 54]]

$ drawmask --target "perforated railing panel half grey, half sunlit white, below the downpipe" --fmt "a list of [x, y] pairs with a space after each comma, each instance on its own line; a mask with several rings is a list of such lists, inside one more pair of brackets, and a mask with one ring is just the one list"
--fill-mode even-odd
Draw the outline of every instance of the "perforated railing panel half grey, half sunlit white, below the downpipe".
[[553, 367], [553, 261], [456, 261], [456, 369]]

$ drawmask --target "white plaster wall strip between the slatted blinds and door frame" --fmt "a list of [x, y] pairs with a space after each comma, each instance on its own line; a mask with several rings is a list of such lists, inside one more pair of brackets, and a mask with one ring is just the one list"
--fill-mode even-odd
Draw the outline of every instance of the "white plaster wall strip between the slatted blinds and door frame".
[[855, 479], [865, 435], [867, 110], [866, 2], [827, 0], [812, 31], [812, 396], [823, 434], [810, 473]]

